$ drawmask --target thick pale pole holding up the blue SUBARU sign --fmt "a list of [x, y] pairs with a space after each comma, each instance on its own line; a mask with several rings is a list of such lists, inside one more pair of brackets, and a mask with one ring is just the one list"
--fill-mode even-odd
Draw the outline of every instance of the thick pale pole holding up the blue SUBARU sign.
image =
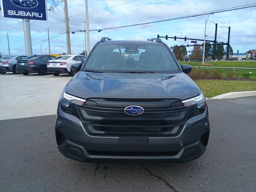
[[30, 34], [30, 22], [29, 19], [23, 20], [23, 31], [24, 31], [24, 40], [25, 40], [25, 49], [26, 55], [32, 55], [32, 42], [31, 42], [31, 34]]

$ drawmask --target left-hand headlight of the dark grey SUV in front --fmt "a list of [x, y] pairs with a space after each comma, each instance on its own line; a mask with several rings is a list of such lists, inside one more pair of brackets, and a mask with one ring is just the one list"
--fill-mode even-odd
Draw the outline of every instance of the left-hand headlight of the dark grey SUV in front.
[[67, 94], [66, 92], [62, 92], [60, 96], [60, 107], [64, 112], [72, 114], [72, 104], [76, 105], [84, 105], [86, 102], [85, 99], [78, 98], [75, 96], [72, 96], [70, 94]]

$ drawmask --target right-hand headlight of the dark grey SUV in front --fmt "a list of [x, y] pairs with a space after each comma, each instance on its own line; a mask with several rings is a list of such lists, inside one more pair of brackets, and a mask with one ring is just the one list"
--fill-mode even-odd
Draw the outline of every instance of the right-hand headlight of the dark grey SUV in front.
[[204, 97], [204, 94], [201, 93], [200, 95], [181, 101], [183, 106], [188, 107], [188, 106], [195, 106], [195, 115], [201, 114], [204, 112], [207, 104], [206, 104], [206, 99]]

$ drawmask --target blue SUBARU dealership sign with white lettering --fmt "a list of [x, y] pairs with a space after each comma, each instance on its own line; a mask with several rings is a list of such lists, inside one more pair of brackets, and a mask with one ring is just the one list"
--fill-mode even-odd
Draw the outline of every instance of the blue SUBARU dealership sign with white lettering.
[[2, 16], [47, 20], [46, 0], [1, 0]]

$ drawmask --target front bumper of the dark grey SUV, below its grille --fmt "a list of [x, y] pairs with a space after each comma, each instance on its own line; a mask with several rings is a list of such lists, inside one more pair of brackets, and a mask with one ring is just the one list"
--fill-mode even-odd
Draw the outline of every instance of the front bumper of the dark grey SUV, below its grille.
[[206, 150], [210, 126], [208, 110], [186, 121], [176, 137], [90, 136], [82, 122], [58, 105], [56, 118], [58, 150], [82, 162], [188, 162]]

